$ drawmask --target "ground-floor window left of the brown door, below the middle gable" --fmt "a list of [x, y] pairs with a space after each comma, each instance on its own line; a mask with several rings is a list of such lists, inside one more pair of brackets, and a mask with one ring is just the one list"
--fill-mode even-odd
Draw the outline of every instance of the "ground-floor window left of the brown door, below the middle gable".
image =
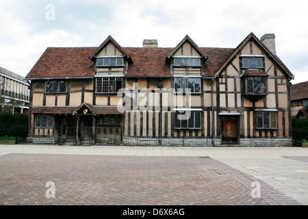
[[175, 129], [201, 129], [201, 111], [176, 110]]

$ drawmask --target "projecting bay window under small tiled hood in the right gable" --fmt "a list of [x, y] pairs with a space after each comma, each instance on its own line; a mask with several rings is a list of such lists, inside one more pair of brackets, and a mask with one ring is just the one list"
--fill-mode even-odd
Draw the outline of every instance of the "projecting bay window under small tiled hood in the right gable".
[[267, 77], [246, 77], [246, 94], [267, 94]]

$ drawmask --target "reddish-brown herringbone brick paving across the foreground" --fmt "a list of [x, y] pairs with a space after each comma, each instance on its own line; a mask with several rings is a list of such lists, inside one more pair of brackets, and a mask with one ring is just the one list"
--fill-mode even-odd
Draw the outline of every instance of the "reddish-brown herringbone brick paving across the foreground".
[[[55, 198], [46, 183], [55, 183]], [[253, 198], [253, 182], [261, 197]], [[0, 156], [0, 205], [300, 205], [209, 157]]]

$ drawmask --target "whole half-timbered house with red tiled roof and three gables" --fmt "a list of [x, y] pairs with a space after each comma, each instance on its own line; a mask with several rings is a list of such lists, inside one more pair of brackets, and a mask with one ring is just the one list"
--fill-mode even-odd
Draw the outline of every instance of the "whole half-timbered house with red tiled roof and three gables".
[[26, 77], [29, 136], [145, 145], [290, 139], [293, 78], [273, 34], [251, 33], [235, 49], [198, 47], [190, 36], [176, 47], [122, 47], [108, 36], [99, 47], [48, 48]]

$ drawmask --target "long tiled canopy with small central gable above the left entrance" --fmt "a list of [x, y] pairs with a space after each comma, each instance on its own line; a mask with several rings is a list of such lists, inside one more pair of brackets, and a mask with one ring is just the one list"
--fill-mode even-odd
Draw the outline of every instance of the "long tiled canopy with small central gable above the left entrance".
[[80, 110], [87, 109], [88, 112], [94, 116], [97, 115], [122, 115], [125, 112], [124, 106], [94, 106], [89, 103], [82, 103], [77, 107], [34, 107], [32, 114], [71, 114], [75, 115]]

